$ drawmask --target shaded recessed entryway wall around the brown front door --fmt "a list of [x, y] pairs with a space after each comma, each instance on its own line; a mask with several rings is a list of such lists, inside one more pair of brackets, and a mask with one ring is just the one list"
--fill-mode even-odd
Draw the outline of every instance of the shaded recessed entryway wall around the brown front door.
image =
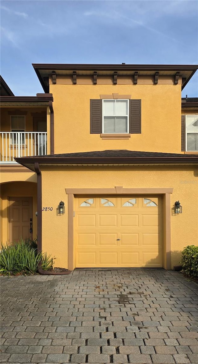
[[[7, 173], [6, 173], [7, 174]], [[17, 174], [17, 173], [15, 173]], [[37, 237], [37, 183], [31, 181], [1, 183], [0, 211], [1, 234], [0, 243], [9, 243], [9, 197], [33, 197], [33, 238]]]

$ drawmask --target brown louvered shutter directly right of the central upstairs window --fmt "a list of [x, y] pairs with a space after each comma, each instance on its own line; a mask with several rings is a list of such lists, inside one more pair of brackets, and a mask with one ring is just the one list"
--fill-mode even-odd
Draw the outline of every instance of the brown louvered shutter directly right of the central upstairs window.
[[129, 100], [129, 132], [141, 134], [141, 100]]

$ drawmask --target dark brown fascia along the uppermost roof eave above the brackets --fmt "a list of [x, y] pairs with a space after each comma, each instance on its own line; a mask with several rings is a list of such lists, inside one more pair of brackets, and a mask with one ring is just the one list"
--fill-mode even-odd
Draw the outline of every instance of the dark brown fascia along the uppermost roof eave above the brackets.
[[40, 70], [67, 70], [67, 71], [191, 71], [191, 74], [186, 78], [182, 85], [182, 90], [189, 82], [191, 77], [198, 69], [198, 65], [189, 64], [47, 64], [47, 63], [32, 63], [34, 70], [45, 92], [49, 92], [49, 86], [46, 86]]

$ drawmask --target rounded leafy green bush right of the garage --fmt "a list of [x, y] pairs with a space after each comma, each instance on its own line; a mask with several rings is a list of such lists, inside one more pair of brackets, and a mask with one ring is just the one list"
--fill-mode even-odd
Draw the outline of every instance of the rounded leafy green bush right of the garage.
[[188, 245], [182, 251], [182, 272], [188, 276], [198, 277], [198, 246]]

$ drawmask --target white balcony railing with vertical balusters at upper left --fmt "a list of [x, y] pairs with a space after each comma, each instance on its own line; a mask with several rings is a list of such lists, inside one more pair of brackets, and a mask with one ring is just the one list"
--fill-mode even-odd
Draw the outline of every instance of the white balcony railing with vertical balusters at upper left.
[[16, 163], [14, 158], [47, 154], [46, 132], [1, 132], [0, 163]]

